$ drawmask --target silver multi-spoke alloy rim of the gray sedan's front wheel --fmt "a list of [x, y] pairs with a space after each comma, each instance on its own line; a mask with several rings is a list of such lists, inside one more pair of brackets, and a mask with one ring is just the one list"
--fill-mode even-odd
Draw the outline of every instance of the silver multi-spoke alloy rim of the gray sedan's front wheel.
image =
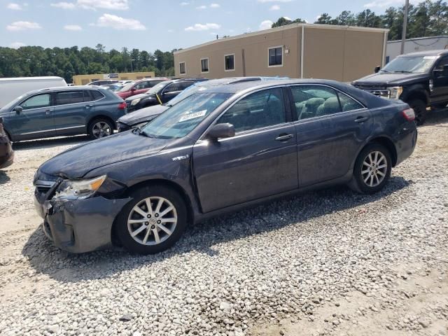
[[142, 245], [157, 245], [167, 240], [176, 224], [176, 208], [164, 197], [141, 200], [127, 218], [127, 230], [132, 239]]

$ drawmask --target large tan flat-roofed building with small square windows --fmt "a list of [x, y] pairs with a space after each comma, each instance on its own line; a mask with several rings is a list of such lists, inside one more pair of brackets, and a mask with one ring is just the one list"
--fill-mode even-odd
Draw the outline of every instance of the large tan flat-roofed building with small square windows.
[[388, 29], [293, 24], [174, 52], [176, 76], [350, 81], [384, 65]]

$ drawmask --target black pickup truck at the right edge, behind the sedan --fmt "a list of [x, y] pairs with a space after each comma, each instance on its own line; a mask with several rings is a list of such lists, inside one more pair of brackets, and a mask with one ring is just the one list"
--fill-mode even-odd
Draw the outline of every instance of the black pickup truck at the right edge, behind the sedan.
[[401, 99], [414, 109], [416, 124], [426, 119], [426, 108], [448, 104], [448, 50], [412, 52], [393, 59], [352, 85], [388, 99]]

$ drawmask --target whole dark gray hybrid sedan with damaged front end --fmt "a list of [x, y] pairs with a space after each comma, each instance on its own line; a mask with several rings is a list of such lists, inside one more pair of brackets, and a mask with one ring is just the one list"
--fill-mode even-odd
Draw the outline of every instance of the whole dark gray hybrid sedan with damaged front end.
[[[330, 80], [221, 85], [36, 172], [36, 209], [71, 252], [158, 253], [188, 223], [335, 184], [376, 193], [414, 151], [414, 111]], [[105, 150], [107, 148], [107, 150]]]

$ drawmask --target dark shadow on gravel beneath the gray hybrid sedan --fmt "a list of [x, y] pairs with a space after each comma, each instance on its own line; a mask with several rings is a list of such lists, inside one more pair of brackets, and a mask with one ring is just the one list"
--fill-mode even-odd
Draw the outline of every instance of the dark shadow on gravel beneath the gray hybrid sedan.
[[[57, 281], [78, 282], [105, 279], [192, 251], [204, 253], [213, 258], [219, 253], [214, 249], [216, 244], [279, 230], [288, 225], [300, 225], [311, 218], [360, 207], [406, 188], [409, 183], [411, 182], [402, 177], [393, 176], [386, 188], [374, 195], [359, 195], [345, 187], [338, 187], [303, 193], [219, 216], [203, 223], [190, 225], [173, 248], [156, 255], [134, 255], [123, 248], [83, 254], [66, 253], [55, 248], [40, 228], [29, 237], [22, 248], [22, 255], [28, 258], [31, 267], [37, 273], [48, 274]], [[304, 230], [304, 235], [307, 235], [307, 230]]]

